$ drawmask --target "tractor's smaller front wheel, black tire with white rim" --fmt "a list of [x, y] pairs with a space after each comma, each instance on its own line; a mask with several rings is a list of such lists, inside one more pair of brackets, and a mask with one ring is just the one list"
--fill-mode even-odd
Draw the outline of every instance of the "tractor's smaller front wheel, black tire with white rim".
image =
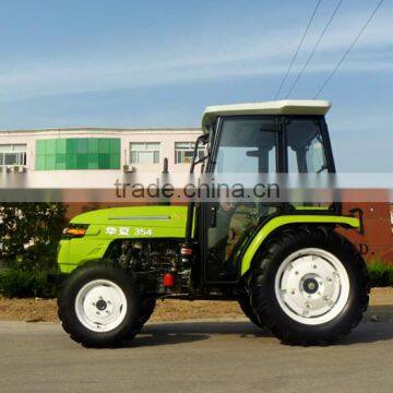
[[58, 296], [58, 313], [71, 338], [86, 347], [114, 347], [141, 330], [141, 300], [132, 277], [110, 262], [78, 267]]

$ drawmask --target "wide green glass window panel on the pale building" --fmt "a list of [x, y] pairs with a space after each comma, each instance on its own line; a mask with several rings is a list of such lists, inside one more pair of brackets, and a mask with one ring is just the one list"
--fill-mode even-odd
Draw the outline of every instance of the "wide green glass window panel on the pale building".
[[36, 141], [36, 170], [120, 169], [120, 139], [59, 138]]

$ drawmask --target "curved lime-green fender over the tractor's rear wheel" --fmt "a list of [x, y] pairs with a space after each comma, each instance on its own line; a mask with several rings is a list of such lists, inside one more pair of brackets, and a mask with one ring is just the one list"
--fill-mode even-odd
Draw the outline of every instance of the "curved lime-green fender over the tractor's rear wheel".
[[356, 217], [335, 216], [335, 215], [282, 215], [267, 222], [255, 235], [241, 260], [241, 276], [245, 275], [250, 266], [252, 259], [263, 241], [276, 229], [288, 224], [334, 224], [344, 227], [359, 228], [360, 221]]

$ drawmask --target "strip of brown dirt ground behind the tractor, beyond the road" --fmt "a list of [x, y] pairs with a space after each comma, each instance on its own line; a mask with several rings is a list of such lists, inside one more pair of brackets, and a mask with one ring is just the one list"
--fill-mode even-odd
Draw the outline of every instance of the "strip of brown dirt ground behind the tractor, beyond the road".
[[[373, 288], [366, 318], [393, 322], [393, 288]], [[236, 301], [158, 301], [152, 321], [184, 321], [193, 319], [242, 318]], [[57, 321], [56, 299], [7, 299], [0, 297], [0, 321]]]

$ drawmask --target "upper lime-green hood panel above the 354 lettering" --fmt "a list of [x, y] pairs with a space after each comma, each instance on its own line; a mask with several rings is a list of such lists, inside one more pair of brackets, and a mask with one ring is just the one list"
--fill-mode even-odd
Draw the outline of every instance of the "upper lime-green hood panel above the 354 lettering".
[[186, 228], [187, 206], [111, 207], [83, 213], [72, 224]]

